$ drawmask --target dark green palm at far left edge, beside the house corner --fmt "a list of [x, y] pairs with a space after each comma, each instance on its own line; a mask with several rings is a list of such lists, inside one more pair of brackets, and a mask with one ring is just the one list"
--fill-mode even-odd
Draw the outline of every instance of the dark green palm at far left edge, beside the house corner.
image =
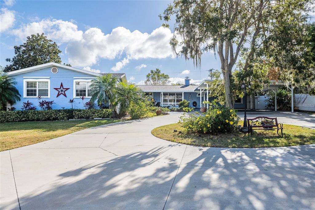
[[16, 89], [16, 81], [7, 75], [0, 76], [0, 109], [3, 110], [7, 104], [13, 105], [21, 100], [19, 90]]

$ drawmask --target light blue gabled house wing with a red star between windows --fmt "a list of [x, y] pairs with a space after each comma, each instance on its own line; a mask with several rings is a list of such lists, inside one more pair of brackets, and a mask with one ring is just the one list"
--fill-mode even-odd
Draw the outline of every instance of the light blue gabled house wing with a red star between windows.
[[[42, 100], [54, 101], [53, 109], [71, 108], [69, 100], [73, 98], [73, 108], [84, 108], [84, 103], [91, 98], [91, 80], [104, 74], [51, 62], [9, 72], [7, 75], [17, 82], [16, 88], [22, 97], [13, 106], [20, 110], [26, 101], [40, 109], [37, 96], [41, 96]], [[117, 77], [117, 82], [127, 83], [124, 73], [112, 73], [112, 76]], [[85, 96], [83, 101], [80, 98], [82, 96]]]

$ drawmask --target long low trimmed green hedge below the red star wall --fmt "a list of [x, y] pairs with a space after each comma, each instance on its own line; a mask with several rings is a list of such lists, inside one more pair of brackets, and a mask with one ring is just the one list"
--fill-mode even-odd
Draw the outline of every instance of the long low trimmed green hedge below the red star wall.
[[0, 111], [0, 122], [47, 121], [69, 119], [111, 118], [111, 109], [51, 109]]

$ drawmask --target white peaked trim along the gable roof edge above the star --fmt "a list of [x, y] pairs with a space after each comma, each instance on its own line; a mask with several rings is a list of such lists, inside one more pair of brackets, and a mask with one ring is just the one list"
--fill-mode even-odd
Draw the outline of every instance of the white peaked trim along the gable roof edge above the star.
[[66, 65], [62, 65], [62, 64], [54, 63], [54, 62], [45, 63], [45, 64], [41, 64], [41, 65], [37, 65], [37, 66], [33, 66], [33, 67], [28, 67], [28, 68], [23, 68], [23, 69], [20, 69], [20, 70], [8, 72], [6, 74], [8, 76], [14, 76], [14, 75], [19, 75], [19, 74], [22, 74], [22, 73], [33, 72], [33, 71], [37, 71], [39, 69], [49, 68], [49, 67], [60, 67], [60, 68], [69, 69], [69, 70], [80, 72], [80, 73], [89, 74], [89, 75], [92, 75], [92, 76], [100, 76], [101, 75], [99, 73], [94, 73], [94, 72], [91, 72], [91, 71], [87, 71], [87, 70], [83, 70], [83, 69], [75, 68], [75, 67], [70, 67], [70, 66], [66, 66]]

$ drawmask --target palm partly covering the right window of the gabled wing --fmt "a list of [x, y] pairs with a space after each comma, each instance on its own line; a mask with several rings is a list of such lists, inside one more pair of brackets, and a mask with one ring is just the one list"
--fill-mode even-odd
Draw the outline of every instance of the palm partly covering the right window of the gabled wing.
[[97, 99], [97, 104], [109, 102], [110, 108], [113, 109], [113, 116], [117, 117], [116, 107], [116, 83], [117, 79], [111, 74], [96, 77], [91, 80], [90, 88], [92, 90], [91, 103]]

